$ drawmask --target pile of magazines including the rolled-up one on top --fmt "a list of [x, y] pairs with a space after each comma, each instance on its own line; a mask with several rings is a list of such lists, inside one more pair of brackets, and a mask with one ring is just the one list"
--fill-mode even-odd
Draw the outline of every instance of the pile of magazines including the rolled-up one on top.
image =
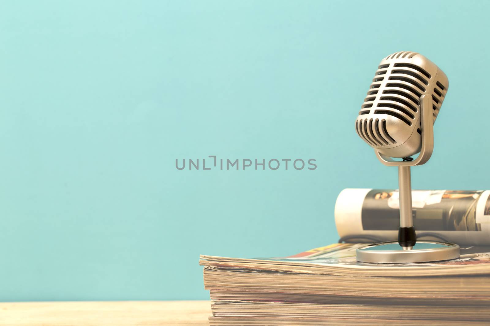
[[200, 257], [211, 326], [490, 325], [490, 191], [413, 191], [419, 239], [452, 241], [461, 258], [362, 263], [355, 250], [395, 240], [396, 190], [345, 189], [341, 243], [284, 258]]

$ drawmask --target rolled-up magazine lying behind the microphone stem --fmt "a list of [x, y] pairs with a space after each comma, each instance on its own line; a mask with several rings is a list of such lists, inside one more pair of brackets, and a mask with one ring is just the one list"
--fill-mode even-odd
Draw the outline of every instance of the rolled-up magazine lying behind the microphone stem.
[[[413, 190], [417, 237], [460, 245], [490, 246], [490, 190]], [[398, 236], [399, 193], [395, 189], [344, 189], [335, 223], [346, 242], [392, 241]]]

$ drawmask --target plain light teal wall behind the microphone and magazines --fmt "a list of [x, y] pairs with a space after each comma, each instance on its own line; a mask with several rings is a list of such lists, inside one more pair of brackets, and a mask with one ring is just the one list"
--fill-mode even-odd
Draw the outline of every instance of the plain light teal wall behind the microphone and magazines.
[[[354, 131], [382, 57], [448, 75], [418, 189], [489, 189], [487, 1], [2, 1], [0, 300], [205, 299], [198, 255], [337, 240], [397, 187]], [[315, 171], [175, 159], [315, 158]]]

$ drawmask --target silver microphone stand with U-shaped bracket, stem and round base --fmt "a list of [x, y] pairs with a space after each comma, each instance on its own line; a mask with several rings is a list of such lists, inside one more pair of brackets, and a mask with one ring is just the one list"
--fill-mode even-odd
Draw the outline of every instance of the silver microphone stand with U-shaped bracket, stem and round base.
[[356, 251], [358, 261], [363, 262], [424, 262], [444, 261], [460, 257], [457, 244], [440, 241], [417, 241], [412, 213], [412, 185], [410, 167], [426, 163], [434, 149], [434, 124], [431, 96], [420, 97], [420, 119], [422, 146], [416, 159], [404, 158], [395, 161], [376, 149], [376, 156], [386, 166], [398, 167], [398, 187], [400, 200], [400, 227], [398, 241], [388, 241], [360, 247]]

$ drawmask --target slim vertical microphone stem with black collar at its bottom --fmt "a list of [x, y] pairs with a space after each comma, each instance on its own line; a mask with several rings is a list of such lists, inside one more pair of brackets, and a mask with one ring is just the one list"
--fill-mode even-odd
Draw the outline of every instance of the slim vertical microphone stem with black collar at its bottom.
[[398, 243], [403, 250], [410, 250], [417, 242], [417, 237], [412, 217], [412, 184], [409, 166], [398, 166], [398, 188], [400, 195]]

